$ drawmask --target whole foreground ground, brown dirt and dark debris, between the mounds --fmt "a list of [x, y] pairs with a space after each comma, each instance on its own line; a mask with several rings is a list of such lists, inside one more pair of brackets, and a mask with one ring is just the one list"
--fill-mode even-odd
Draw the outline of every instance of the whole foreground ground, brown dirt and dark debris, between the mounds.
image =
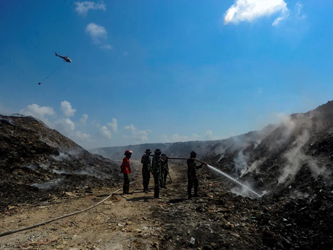
[[[0, 249], [333, 249], [330, 186], [318, 186], [311, 202], [283, 194], [250, 199], [230, 192], [232, 183], [203, 167], [197, 172], [200, 197], [189, 200], [187, 167], [172, 163], [173, 182], [154, 199], [153, 192], [142, 192], [135, 165], [133, 194], [118, 192], [78, 215], [0, 237]], [[149, 186], [153, 190], [152, 177]], [[0, 214], [0, 232], [83, 210], [114, 190], [83, 188], [47, 203], [8, 207]]]

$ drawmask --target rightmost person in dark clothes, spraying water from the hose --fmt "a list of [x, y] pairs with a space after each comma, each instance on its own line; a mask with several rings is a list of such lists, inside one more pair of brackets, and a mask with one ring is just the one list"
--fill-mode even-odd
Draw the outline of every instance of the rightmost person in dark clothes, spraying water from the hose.
[[[198, 178], [196, 177], [196, 169], [199, 169], [203, 167], [203, 165], [207, 166], [207, 164], [202, 163], [201, 165], [197, 166], [196, 161], [194, 160], [196, 158], [196, 152], [191, 151], [191, 155], [189, 156], [190, 158], [187, 160], [187, 194], [189, 194], [189, 199], [192, 197], [199, 197], [198, 195], [198, 186], [199, 186], [199, 181]], [[192, 188], [194, 186], [194, 194], [192, 195]]]

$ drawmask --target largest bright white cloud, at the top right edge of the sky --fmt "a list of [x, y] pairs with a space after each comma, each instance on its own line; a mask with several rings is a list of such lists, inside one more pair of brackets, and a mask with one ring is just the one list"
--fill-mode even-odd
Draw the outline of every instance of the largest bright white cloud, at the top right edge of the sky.
[[284, 0], [236, 0], [225, 12], [224, 24], [239, 22], [252, 22], [259, 17], [268, 17], [280, 12], [273, 26], [276, 26], [288, 16], [289, 10]]

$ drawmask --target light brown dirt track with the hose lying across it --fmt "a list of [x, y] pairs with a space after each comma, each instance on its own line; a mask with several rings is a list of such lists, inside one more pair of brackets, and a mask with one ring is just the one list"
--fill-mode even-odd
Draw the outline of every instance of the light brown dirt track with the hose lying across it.
[[[175, 206], [186, 207], [196, 202], [196, 199], [186, 199], [186, 182], [181, 181], [185, 177], [185, 166], [182, 172], [174, 171], [174, 168], [170, 166], [173, 183], [170, 179], [167, 181], [168, 189], [160, 191], [160, 199], [153, 198], [153, 191], [148, 194], [142, 192], [142, 183], [139, 181], [131, 186], [133, 194], [118, 192], [105, 203], [86, 212], [3, 236], [0, 238], [0, 249], [164, 249], [163, 244], [167, 249], [173, 249], [177, 244], [173, 244], [171, 239], [166, 240], [164, 235], [167, 229], [164, 227], [172, 223], [172, 217], [166, 223], [157, 215], [157, 211]], [[152, 177], [150, 189], [153, 190]], [[20, 204], [12, 208], [12, 213], [0, 215], [0, 231], [24, 228], [82, 210], [101, 201], [114, 190], [78, 190], [57, 197], [54, 204]], [[170, 203], [175, 197], [178, 201]]]

